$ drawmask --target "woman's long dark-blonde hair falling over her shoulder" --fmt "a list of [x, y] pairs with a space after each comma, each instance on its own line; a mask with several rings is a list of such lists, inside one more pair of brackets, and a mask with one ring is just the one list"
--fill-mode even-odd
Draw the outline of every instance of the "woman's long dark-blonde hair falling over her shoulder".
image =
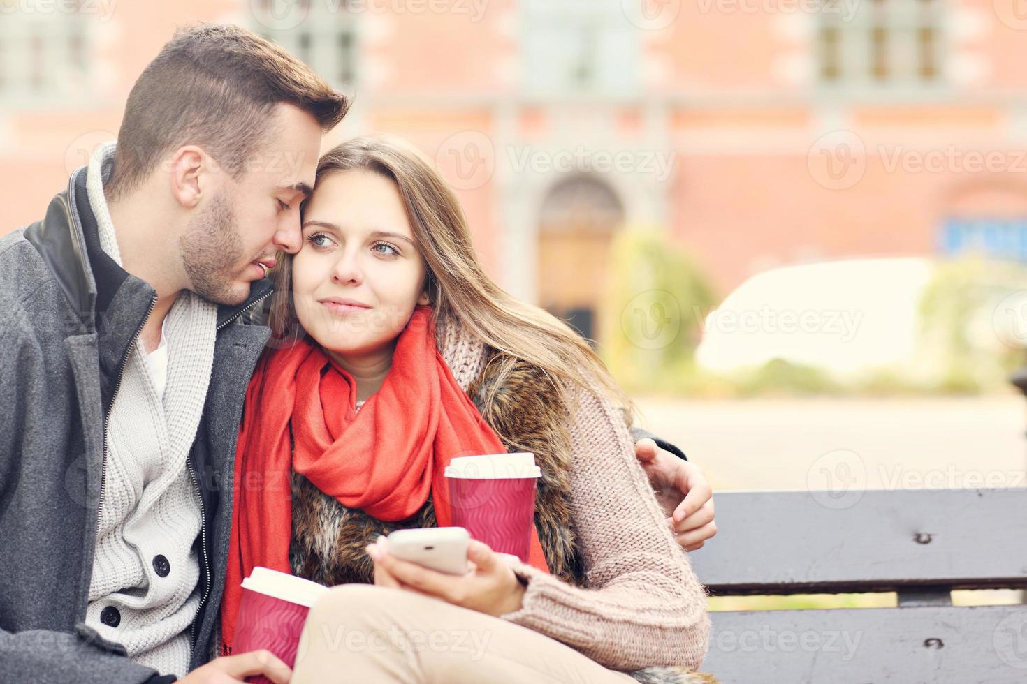
[[[482, 269], [471, 244], [463, 209], [442, 174], [417, 149], [392, 136], [364, 136], [332, 149], [320, 158], [314, 191], [337, 172], [363, 170], [395, 183], [427, 271], [426, 289], [441, 321], [456, 318], [474, 336], [502, 354], [491, 363], [502, 387], [519, 361], [538, 368], [565, 402], [575, 387], [604, 391], [629, 413], [631, 402], [588, 344], [548, 312], [521, 301], [496, 285]], [[275, 268], [271, 329], [275, 337], [302, 330], [292, 305], [292, 258]], [[598, 387], [597, 387], [598, 385]], [[487, 395], [486, 402], [492, 400]]]

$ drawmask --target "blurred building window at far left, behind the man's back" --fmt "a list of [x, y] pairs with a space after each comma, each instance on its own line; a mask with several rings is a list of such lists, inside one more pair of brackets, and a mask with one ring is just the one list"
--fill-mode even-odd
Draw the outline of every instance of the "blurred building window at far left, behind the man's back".
[[88, 96], [90, 17], [75, 3], [60, 7], [22, 12], [11, 5], [0, 14], [0, 107], [60, 105]]

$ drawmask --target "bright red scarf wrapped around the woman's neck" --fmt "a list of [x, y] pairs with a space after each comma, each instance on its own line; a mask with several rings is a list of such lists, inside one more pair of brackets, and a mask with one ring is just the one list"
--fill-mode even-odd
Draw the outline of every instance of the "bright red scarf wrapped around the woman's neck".
[[[446, 527], [450, 459], [506, 451], [439, 353], [430, 315], [429, 307], [414, 311], [381, 390], [358, 413], [353, 377], [315, 343], [264, 354], [246, 389], [235, 451], [223, 654], [231, 652], [242, 578], [257, 565], [290, 572], [292, 471], [379, 520], [410, 518], [430, 493]], [[528, 562], [548, 571], [535, 530]]]

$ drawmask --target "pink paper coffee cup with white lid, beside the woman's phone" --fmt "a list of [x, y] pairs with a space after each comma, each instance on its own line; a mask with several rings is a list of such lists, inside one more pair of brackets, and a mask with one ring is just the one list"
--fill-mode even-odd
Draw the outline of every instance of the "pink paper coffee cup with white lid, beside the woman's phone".
[[527, 562], [540, 476], [532, 453], [453, 458], [446, 468], [453, 525]]

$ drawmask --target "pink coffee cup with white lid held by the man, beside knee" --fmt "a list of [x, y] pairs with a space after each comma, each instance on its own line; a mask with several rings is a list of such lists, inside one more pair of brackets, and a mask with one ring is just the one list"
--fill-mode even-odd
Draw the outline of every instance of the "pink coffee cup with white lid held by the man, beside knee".
[[[266, 648], [292, 668], [310, 606], [327, 591], [302, 577], [255, 567], [242, 580], [232, 653]], [[248, 677], [246, 681], [271, 684], [264, 676]]]

